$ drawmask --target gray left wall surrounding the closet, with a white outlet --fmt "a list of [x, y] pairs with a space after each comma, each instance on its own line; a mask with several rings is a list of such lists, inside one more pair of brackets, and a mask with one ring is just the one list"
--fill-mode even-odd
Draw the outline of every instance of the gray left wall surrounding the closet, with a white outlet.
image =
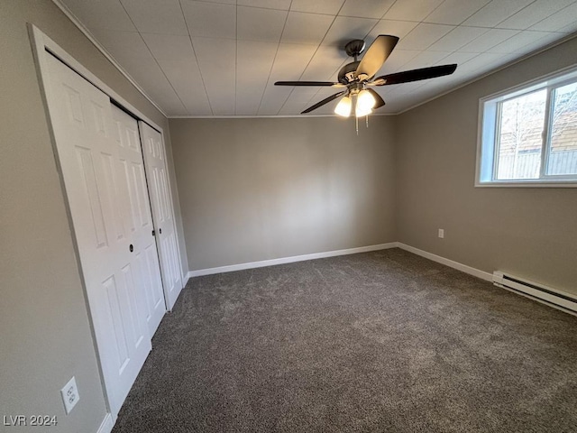
[[[54, 431], [96, 431], [104, 394], [27, 22], [168, 123], [49, 0], [0, 1], [0, 416], [56, 415]], [[80, 401], [66, 416], [60, 388], [72, 375]]]

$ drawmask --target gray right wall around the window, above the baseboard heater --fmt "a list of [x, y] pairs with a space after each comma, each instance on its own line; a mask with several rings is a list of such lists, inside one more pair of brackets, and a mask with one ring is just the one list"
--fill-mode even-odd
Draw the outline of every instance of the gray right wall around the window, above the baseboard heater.
[[575, 52], [573, 39], [398, 116], [400, 242], [577, 294], [577, 189], [473, 187], [479, 98], [570, 66]]

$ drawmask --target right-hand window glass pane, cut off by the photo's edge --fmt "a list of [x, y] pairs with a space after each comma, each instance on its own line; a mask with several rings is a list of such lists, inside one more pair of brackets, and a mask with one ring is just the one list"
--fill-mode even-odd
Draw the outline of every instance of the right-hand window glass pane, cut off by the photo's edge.
[[577, 83], [554, 91], [547, 174], [577, 174]]

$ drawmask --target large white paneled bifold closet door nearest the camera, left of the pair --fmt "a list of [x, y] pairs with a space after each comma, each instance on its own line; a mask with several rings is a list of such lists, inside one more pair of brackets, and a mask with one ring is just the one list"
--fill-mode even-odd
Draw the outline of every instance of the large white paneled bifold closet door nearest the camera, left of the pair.
[[138, 128], [105, 93], [45, 55], [50, 121], [115, 418], [166, 309]]

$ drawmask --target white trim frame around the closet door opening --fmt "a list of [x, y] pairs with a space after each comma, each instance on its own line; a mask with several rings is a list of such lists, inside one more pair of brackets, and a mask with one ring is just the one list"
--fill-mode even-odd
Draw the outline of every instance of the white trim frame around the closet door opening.
[[[84, 66], [82, 66], [78, 62], [78, 60], [74, 59], [71, 55], [69, 55], [69, 53], [67, 51], [64, 51], [58, 43], [56, 43], [55, 41], [50, 39], [50, 37], [47, 36], [44, 32], [41, 32], [41, 30], [38, 27], [36, 27], [32, 23], [28, 23], [28, 32], [30, 35], [31, 43], [32, 43], [32, 54], [33, 54], [34, 62], [36, 65], [38, 82], [39, 82], [39, 85], [41, 88], [42, 102], [43, 102], [43, 104], [45, 106], [45, 110], [46, 110], [45, 111], [46, 112], [46, 121], [47, 121], [49, 130], [50, 130], [50, 140], [52, 142], [52, 147], [53, 147], [53, 150], [55, 152], [55, 158], [57, 160], [58, 160], [58, 157], [56, 156], [57, 155], [56, 152], [58, 152], [58, 149], [56, 147], [54, 131], [52, 130], [52, 125], [50, 123], [50, 115], [48, 112], [48, 106], [49, 105], [48, 105], [47, 93], [46, 93], [47, 89], [46, 89], [46, 86], [44, 84], [44, 81], [47, 80], [48, 76], [49, 76], [49, 67], [47, 64], [45, 51], [49, 51], [50, 54], [52, 54], [54, 57], [58, 58], [60, 61], [62, 61], [64, 64], [66, 64], [70, 69], [77, 72], [78, 75], [87, 79], [87, 81], [89, 83], [91, 83], [93, 86], [95, 86], [96, 88], [98, 88], [102, 92], [104, 92], [108, 97], [110, 97], [112, 100], [114, 100], [114, 102], [116, 104], [118, 104], [119, 106], [122, 106], [126, 111], [130, 112], [137, 119], [140, 119], [143, 122], [151, 125], [152, 128], [159, 131], [160, 134], [162, 135], [162, 137], [164, 137], [164, 132], [158, 124], [155, 124], [149, 117], [142, 114], [142, 112], [140, 110], [138, 110], [136, 107], [134, 107], [128, 101], [126, 101], [124, 99], [124, 97], [121, 97], [120, 95], [118, 95], [116, 92], [114, 92], [114, 90], [112, 88], [109, 88], [108, 86], [106, 86], [103, 81], [101, 81], [99, 78], [96, 78], [96, 76], [92, 72], [90, 72], [88, 69], [86, 69]], [[60, 173], [60, 175], [61, 175], [61, 173]], [[63, 191], [65, 191], [65, 185], [64, 185], [64, 182], [62, 180], [61, 180], [61, 188]], [[172, 191], [170, 191], [170, 195], [172, 195]], [[172, 210], [174, 213], [174, 207], [172, 208]], [[68, 213], [69, 213], [69, 211], [68, 211]], [[70, 225], [71, 233], [74, 233], [70, 214], [69, 214], [69, 225]], [[155, 224], [155, 226], [156, 226], [156, 224]], [[75, 239], [73, 241], [74, 241], [74, 247], [75, 247], [75, 255], [76, 255], [76, 259], [77, 259], [77, 263], [78, 263], [78, 270], [82, 270], [82, 266], [80, 265], [80, 255], [78, 252], [78, 245], [76, 244]], [[178, 239], [177, 239], [177, 246], [178, 246], [179, 253], [180, 253], [180, 246], [178, 243]], [[180, 256], [179, 256], [179, 260], [180, 260]], [[184, 281], [184, 275], [183, 275], [183, 281]], [[84, 282], [83, 278], [82, 278], [82, 290], [84, 292], [85, 299], [87, 299], [87, 289], [85, 287], [85, 282]], [[166, 290], [164, 288], [163, 288], [163, 291], [164, 291], [164, 297], [165, 297], [165, 299], [167, 299]], [[168, 306], [168, 302], [166, 302], [166, 304]], [[88, 319], [90, 321], [93, 344], [95, 347], [96, 355], [98, 355], [98, 346], [96, 344], [94, 323], [92, 321], [92, 317], [91, 317], [91, 313], [90, 313], [90, 309], [89, 309], [88, 304], [87, 304], [87, 313], [88, 313]], [[98, 356], [97, 356], [97, 358], [98, 358]], [[102, 364], [102, 361], [99, 358], [98, 358], [98, 363]], [[101, 365], [99, 365], [99, 367], [100, 367], [100, 369], [102, 369]], [[101, 375], [102, 375], [102, 371], [101, 371]], [[103, 381], [103, 383], [104, 383], [104, 381]], [[108, 410], [108, 414], [106, 415], [106, 418], [103, 421], [103, 426], [106, 425], [112, 429], [112, 426], [114, 425], [114, 422], [115, 422], [115, 414], [112, 413], [112, 411], [111, 411], [110, 401], [108, 400], [108, 396], [106, 395], [104, 386], [103, 386], [103, 392], [104, 392], [104, 398], [105, 398], [105, 402], [106, 402], [106, 406], [107, 406], [107, 410]]]

